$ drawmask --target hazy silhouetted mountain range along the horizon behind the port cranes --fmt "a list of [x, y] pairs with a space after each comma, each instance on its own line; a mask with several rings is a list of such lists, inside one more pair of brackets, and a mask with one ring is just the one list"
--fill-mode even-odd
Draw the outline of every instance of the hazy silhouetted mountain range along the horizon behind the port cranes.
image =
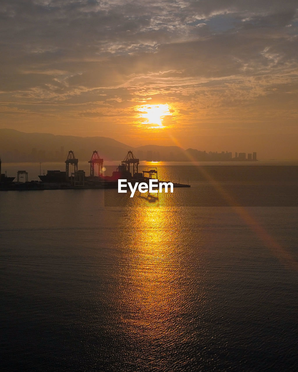
[[140, 160], [158, 161], [243, 161], [256, 160], [256, 153], [232, 153], [199, 151], [193, 148], [184, 150], [178, 146], [146, 145], [132, 147], [107, 137], [75, 137], [50, 133], [24, 133], [15, 129], [0, 129], [0, 156], [5, 162], [45, 162], [65, 161], [68, 151], [73, 150], [80, 161], [91, 158], [97, 150], [104, 161], [125, 158], [132, 150]]

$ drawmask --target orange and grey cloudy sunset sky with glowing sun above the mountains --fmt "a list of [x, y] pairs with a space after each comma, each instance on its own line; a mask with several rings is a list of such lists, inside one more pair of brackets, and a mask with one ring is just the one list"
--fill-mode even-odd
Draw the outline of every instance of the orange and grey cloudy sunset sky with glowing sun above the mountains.
[[298, 159], [297, 8], [2, 0], [0, 128]]

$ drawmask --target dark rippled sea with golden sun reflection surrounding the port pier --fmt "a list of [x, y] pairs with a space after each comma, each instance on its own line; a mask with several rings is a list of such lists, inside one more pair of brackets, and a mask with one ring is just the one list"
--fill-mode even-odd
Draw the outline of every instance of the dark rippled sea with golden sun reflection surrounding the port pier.
[[298, 164], [149, 167], [191, 187], [0, 191], [0, 370], [298, 371]]

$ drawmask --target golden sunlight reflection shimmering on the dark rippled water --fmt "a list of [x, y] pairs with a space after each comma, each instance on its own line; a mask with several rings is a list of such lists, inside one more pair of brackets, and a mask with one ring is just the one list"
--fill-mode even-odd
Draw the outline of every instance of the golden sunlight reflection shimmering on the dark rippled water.
[[[119, 231], [118, 248], [126, 257], [119, 285], [120, 331], [131, 336], [133, 357], [152, 357], [159, 370], [169, 363], [166, 348], [178, 344], [183, 349], [195, 337], [184, 320], [186, 312], [192, 313], [189, 298], [194, 286], [189, 267], [180, 263], [187, 252], [185, 242], [190, 241], [180, 219], [172, 195], [143, 194], [131, 201]], [[199, 298], [204, 306], [204, 294]], [[183, 362], [170, 358], [173, 368]]]

